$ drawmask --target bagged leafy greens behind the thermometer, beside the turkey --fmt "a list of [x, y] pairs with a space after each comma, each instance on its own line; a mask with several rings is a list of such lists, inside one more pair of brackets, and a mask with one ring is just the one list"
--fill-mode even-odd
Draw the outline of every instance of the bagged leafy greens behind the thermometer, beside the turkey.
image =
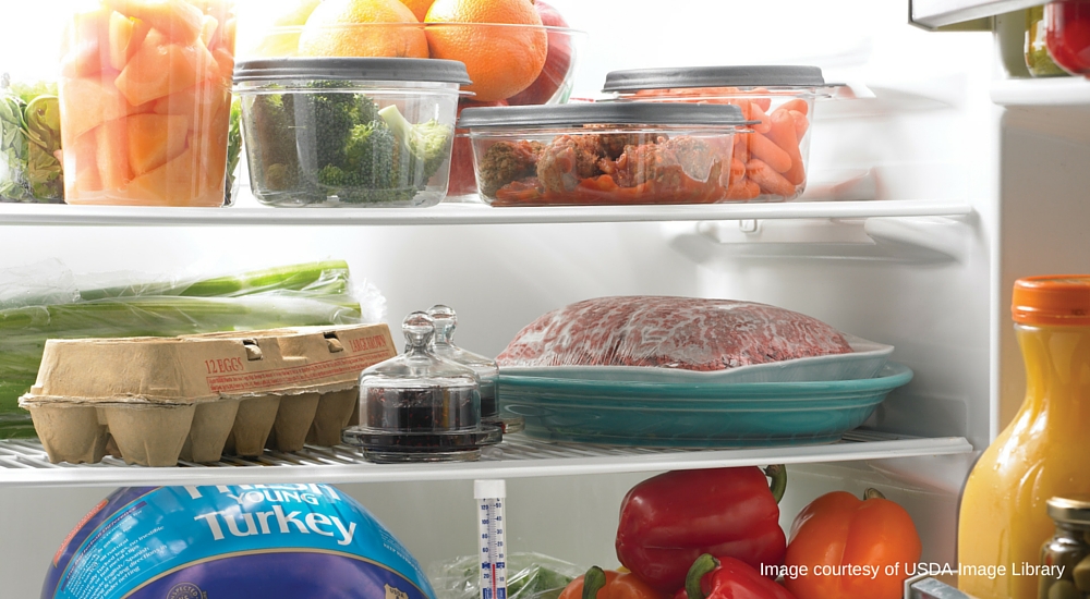
[[[556, 599], [572, 578], [585, 573], [576, 564], [541, 553], [510, 553], [508, 599]], [[477, 599], [481, 565], [476, 555], [432, 564], [428, 578], [437, 599]]]

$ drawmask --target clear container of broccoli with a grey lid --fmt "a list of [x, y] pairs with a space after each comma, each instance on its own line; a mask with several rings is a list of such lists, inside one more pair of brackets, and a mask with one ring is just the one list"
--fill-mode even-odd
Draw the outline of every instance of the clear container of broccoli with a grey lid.
[[250, 183], [269, 206], [434, 206], [447, 192], [460, 62], [239, 63]]

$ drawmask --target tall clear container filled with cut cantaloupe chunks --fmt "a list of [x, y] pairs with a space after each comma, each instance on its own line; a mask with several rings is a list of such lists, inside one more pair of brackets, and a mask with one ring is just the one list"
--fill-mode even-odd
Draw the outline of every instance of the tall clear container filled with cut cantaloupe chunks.
[[221, 206], [233, 0], [85, 7], [70, 15], [61, 48], [64, 200]]

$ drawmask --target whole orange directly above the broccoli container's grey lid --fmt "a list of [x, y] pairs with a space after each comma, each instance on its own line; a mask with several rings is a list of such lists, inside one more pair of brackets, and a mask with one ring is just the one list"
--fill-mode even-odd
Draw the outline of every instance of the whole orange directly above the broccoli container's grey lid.
[[398, 0], [325, 0], [303, 26], [299, 56], [427, 58], [423, 27], [413, 23], [420, 21]]

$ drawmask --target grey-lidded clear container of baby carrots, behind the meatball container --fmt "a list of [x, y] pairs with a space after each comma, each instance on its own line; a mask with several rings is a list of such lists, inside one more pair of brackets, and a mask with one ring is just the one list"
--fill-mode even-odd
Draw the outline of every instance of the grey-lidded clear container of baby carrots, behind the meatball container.
[[806, 190], [814, 101], [838, 85], [816, 66], [700, 66], [614, 71], [602, 90], [618, 100], [738, 106], [759, 122], [735, 138], [731, 198], [778, 201]]

